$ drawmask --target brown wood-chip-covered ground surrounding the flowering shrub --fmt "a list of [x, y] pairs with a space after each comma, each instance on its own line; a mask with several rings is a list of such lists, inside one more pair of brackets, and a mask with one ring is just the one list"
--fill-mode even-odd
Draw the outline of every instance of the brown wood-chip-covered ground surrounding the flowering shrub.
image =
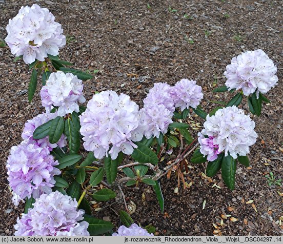
[[[142, 226], [152, 224], [157, 235], [213, 235], [212, 223], [217, 225], [221, 215], [228, 214], [238, 221], [224, 218], [224, 225], [218, 226], [223, 235], [283, 234], [279, 226], [283, 197], [278, 194], [283, 189], [268, 186], [265, 178], [269, 172], [283, 178], [282, 1], [6, 0], [0, 1], [0, 38], [6, 37], [9, 18], [21, 6], [33, 3], [47, 7], [62, 24], [67, 45], [60, 56], [79, 69], [99, 70], [85, 82], [88, 100], [95, 91], [112, 89], [129, 94], [140, 105], [155, 82], [173, 85], [187, 77], [203, 87], [203, 106], [210, 111], [217, 106], [211, 100], [228, 101], [233, 96], [211, 92], [214, 86], [224, 85], [223, 72], [231, 58], [246, 50], [263, 49], [278, 67], [279, 83], [268, 93], [272, 103], [264, 105], [261, 116], [251, 115], [258, 139], [249, 155], [251, 168], [238, 166], [235, 190], [224, 186], [220, 174], [214, 177], [220, 189], [212, 187], [213, 182], [201, 175], [201, 165], [193, 166], [186, 175], [188, 182], [193, 181], [187, 191], [180, 186], [174, 193], [174, 177], [161, 180], [165, 214], [160, 213], [151, 187], [123, 189], [128, 203], [131, 200], [137, 206], [134, 221]], [[10, 201], [5, 167], [10, 148], [21, 142], [25, 121], [43, 111], [38, 93], [28, 103], [30, 72], [22, 61], [13, 63], [13, 58], [7, 46], [0, 48], [1, 235], [13, 234], [16, 218], [23, 212], [22, 205], [14, 207]], [[248, 113], [245, 103], [242, 108]], [[141, 200], [143, 192], [145, 201]], [[254, 200], [256, 209], [246, 204], [249, 200]], [[117, 201], [94, 214], [118, 227], [116, 212], [123, 208], [123, 202]]]

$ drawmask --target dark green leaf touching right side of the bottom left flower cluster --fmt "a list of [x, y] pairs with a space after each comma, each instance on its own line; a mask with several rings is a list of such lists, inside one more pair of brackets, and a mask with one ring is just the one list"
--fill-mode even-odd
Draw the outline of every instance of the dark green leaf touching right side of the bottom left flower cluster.
[[87, 214], [84, 215], [84, 220], [89, 223], [88, 232], [90, 235], [104, 234], [114, 228], [111, 222], [94, 218]]

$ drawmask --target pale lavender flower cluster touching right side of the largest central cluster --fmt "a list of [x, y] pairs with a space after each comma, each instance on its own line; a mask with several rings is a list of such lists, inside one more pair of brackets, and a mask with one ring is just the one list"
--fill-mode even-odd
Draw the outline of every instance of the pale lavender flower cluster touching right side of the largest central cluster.
[[172, 112], [162, 104], [145, 105], [140, 110], [140, 124], [146, 128], [144, 133], [148, 139], [152, 136], [159, 138], [160, 132], [167, 133], [171, 123], [173, 123]]

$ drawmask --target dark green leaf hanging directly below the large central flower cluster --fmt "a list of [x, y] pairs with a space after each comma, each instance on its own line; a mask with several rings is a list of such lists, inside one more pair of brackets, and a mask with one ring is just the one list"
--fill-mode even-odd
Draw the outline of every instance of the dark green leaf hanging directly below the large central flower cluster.
[[117, 176], [118, 165], [123, 161], [124, 154], [119, 153], [116, 159], [112, 159], [110, 155], [104, 158], [104, 169], [106, 173], [106, 179], [109, 184], [112, 184]]

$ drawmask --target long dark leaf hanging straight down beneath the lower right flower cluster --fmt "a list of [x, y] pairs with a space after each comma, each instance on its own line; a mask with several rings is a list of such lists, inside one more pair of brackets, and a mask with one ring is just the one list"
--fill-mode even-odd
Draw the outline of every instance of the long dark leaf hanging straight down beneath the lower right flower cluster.
[[221, 175], [230, 190], [235, 188], [235, 174], [236, 174], [236, 160], [231, 157], [230, 153], [226, 157], [223, 157], [221, 164]]

